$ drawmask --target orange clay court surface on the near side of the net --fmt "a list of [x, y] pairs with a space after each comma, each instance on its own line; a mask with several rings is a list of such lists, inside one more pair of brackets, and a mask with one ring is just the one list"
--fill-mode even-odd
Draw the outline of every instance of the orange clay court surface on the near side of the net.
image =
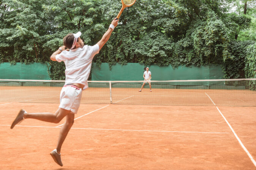
[[54, 113], [58, 104], [0, 106], [0, 169], [256, 169], [256, 107], [81, 104], [60, 167], [49, 153], [64, 119], [26, 119], [10, 129], [21, 108]]

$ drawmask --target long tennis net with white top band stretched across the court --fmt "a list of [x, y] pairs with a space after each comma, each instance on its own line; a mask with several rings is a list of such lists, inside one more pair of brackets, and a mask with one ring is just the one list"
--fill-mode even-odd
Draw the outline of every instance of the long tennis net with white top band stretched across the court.
[[[59, 103], [64, 81], [0, 80], [0, 102]], [[88, 81], [82, 104], [256, 106], [256, 79]]]

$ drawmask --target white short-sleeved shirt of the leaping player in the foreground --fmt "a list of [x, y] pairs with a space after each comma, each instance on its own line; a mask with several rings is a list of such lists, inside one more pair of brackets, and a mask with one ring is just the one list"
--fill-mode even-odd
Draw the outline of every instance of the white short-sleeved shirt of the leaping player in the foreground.
[[90, 74], [92, 59], [98, 54], [100, 47], [98, 44], [94, 46], [85, 45], [83, 48], [70, 49], [70, 51], [62, 51], [56, 55], [58, 62], [64, 62], [66, 66], [65, 85], [79, 83], [84, 85], [82, 90], [88, 88], [87, 79]]

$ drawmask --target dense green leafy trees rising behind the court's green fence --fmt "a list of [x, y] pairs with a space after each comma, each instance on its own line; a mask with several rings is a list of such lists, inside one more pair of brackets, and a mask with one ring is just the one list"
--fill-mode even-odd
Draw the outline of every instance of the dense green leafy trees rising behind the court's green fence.
[[[249, 5], [248, 15], [230, 13], [233, 2], [138, 0], [123, 11], [93, 62], [214, 63], [223, 65], [226, 78], [243, 77], [246, 55], [252, 54], [247, 45], [256, 39], [255, 11]], [[96, 44], [121, 6], [120, 0], [0, 0], [0, 62], [49, 62], [51, 78], [65, 79], [63, 62], [49, 59], [63, 37], [81, 31], [85, 44]], [[235, 34], [254, 42], [234, 42]]]

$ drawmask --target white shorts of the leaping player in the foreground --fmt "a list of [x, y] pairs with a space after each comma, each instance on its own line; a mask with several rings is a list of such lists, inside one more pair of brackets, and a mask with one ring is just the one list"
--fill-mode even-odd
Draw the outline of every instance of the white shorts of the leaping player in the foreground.
[[59, 108], [70, 110], [71, 113], [76, 114], [80, 106], [82, 97], [82, 89], [75, 85], [64, 85], [60, 92]]

